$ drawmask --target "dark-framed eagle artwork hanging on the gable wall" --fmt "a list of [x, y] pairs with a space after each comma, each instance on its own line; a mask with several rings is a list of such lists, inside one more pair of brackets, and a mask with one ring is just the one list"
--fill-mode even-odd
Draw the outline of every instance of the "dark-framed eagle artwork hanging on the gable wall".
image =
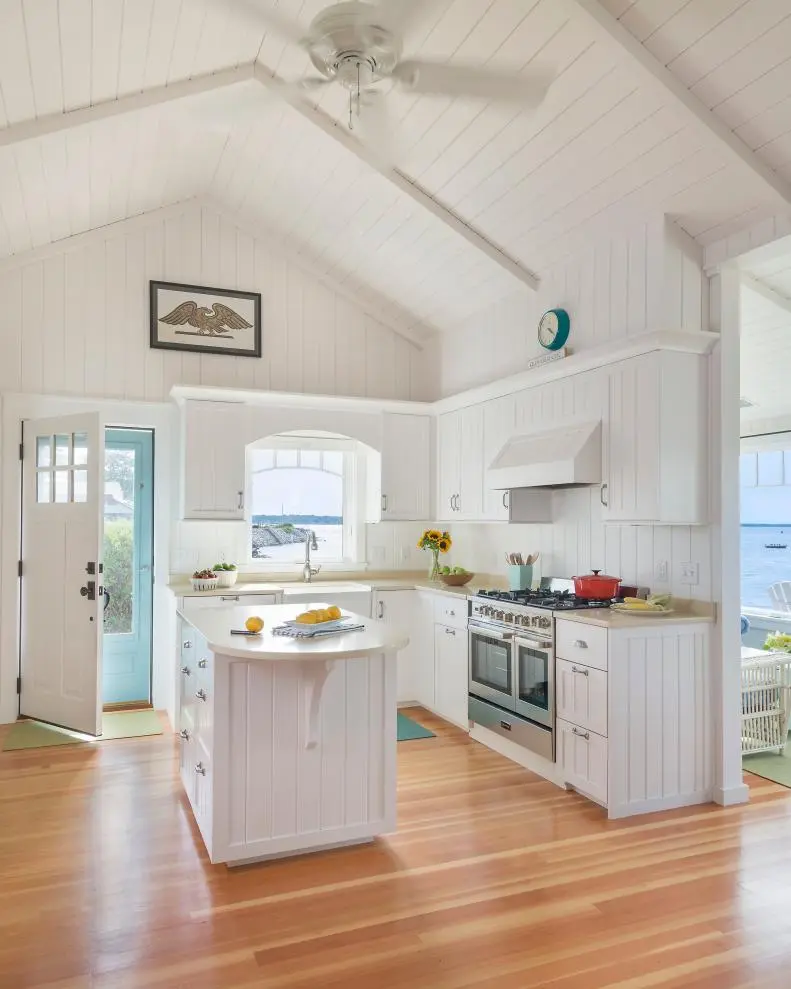
[[261, 294], [150, 283], [151, 346], [201, 354], [261, 356]]

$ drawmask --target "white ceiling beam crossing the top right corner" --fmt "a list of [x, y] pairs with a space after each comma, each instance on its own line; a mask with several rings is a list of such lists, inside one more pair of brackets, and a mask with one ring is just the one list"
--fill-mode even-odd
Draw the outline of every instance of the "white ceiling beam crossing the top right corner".
[[773, 200], [784, 207], [791, 205], [791, 185], [761, 161], [727, 124], [687, 89], [599, 0], [574, 2], [602, 37], [609, 39], [630, 57], [646, 82], [658, 88], [665, 96], [671, 97], [675, 108], [708, 135], [712, 145], [719, 148], [727, 161], [739, 165], [746, 174], [763, 185], [765, 192]]

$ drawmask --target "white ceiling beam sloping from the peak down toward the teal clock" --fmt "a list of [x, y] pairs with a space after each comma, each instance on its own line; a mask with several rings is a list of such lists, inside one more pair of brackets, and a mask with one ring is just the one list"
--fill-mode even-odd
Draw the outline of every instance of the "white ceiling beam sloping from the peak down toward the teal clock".
[[479, 233], [468, 223], [465, 223], [456, 213], [438, 203], [425, 189], [409, 179], [403, 172], [384, 162], [379, 155], [353, 137], [350, 131], [343, 125], [338, 124], [304, 99], [294, 90], [293, 86], [283, 83], [260, 63], [256, 63], [255, 65], [255, 78], [270, 92], [275, 93], [282, 100], [285, 100], [306, 120], [309, 120], [314, 126], [341, 144], [347, 151], [351, 151], [352, 154], [377, 171], [397, 189], [406, 193], [419, 206], [428, 210], [438, 220], [441, 220], [454, 233], [463, 237], [468, 244], [471, 244], [490, 261], [499, 265], [509, 275], [512, 275], [517, 281], [521, 282], [522, 285], [527, 285], [534, 292], [537, 291], [540, 284], [540, 279], [537, 275], [519, 264], [518, 261], [514, 260], [509, 254], [506, 254], [496, 244], [487, 240], [483, 234]]

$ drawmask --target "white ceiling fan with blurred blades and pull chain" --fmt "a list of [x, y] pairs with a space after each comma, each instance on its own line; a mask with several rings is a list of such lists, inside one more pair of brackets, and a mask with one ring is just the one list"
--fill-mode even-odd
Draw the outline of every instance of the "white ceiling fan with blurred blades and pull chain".
[[267, 31], [304, 49], [318, 75], [303, 90], [340, 85], [349, 93], [349, 127], [359, 117], [370, 141], [392, 134], [385, 98], [398, 87], [420, 95], [467, 97], [537, 107], [551, 77], [546, 72], [505, 72], [485, 67], [403, 57], [404, 35], [436, 0], [345, 0], [325, 7], [305, 28], [271, 0], [236, 0]]

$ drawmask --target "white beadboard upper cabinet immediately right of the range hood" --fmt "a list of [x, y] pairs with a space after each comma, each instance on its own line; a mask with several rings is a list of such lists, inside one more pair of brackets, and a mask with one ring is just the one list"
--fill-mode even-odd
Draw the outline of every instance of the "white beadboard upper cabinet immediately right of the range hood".
[[605, 521], [707, 521], [707, 383], [698, 354], [656, 351], [609, 369]]

